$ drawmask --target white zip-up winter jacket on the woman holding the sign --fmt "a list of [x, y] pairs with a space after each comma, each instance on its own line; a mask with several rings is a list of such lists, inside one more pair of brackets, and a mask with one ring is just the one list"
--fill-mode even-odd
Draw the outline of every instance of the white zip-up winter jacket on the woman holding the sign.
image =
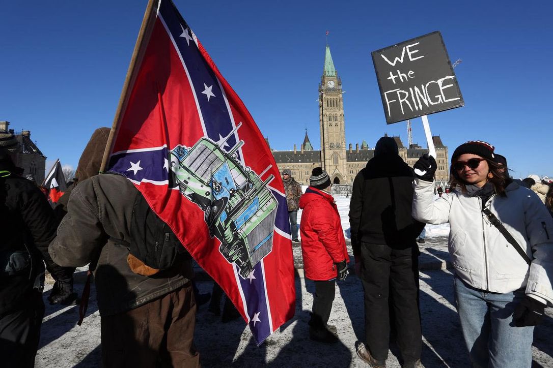
[[415, 179], [413, 217], [421, 222], [450, 222], [448, 248], [457, 276], [477, 289], [512, 292], [553, 305], [553, 218], [538, 196], [516, 183], [506, 197], [493, 195], [486, 202], [492, 213], [526, 250], [530, 266], [482, 214], [482, 200], [453, 191], [432, 201], [434, 184]]

